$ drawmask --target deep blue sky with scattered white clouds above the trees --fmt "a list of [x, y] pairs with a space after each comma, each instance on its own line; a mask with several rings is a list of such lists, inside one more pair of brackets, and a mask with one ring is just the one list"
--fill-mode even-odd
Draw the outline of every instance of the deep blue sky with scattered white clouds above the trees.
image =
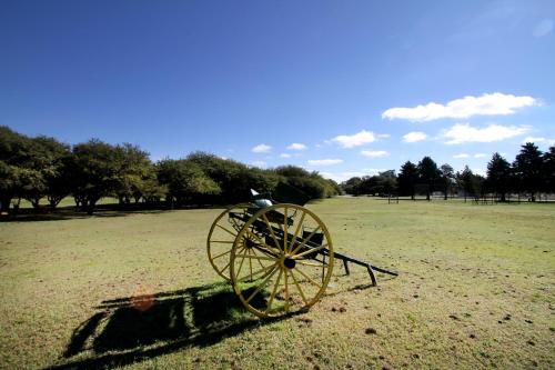
[[555, 144], [555, 1], [2, 1], [0, 124], [336, 180]]

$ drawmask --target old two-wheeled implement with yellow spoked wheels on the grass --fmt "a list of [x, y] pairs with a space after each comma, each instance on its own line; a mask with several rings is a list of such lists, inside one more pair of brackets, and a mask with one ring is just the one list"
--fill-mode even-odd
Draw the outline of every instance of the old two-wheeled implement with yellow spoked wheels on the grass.
[[252, 313], [265, 318], [305, 311], [325, 292], [335, 261], [364, 267], [376, 286], [375, 271], [397, 276], [334, 251], [330, 231], [304, 204], [300, 190], [280, 184], [271, 194], [254, 190], [250, 202], [223, 211], [206, 241], [210, 263]]

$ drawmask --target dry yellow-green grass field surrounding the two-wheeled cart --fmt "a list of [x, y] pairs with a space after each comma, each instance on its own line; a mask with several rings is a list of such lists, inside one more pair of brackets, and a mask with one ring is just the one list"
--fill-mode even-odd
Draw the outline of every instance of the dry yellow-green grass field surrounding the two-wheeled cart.
[[400, 276], [337, 263], [310, 312], [259, 320], [206, 259], [219, 209], [0, 223], [0, 368], [555, 368], [555, 206], [309, 208]]

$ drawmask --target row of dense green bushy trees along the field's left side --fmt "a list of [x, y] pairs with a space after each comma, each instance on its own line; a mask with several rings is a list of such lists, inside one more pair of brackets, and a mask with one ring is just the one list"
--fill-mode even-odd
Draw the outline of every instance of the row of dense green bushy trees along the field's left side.
[[[36, 209], [54, 209], [65, 197], [89, 214], [104, 197], [122, 206], [231, 204], [249, 200], [251, 188], [271, 193], [280, 183], [311, 199], [341, 192], [333, 180], [294, 166], [260, 169], [205, 152], [152, 162], [130, 143], [91, 139], [70, 146], [0, 127], [1, 212], [17, 212], [21, 199]], [[44, 200], [48, 206], [41, 204]]]

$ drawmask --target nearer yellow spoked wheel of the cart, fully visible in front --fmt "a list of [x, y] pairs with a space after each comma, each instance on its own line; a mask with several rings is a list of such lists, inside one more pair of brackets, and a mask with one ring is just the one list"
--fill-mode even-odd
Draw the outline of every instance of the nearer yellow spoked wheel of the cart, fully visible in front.
[[259, 317], [307, 310], [333, 271], [333, 244], [325, 224], [296, 204], [275, 204], [242, 227], [230, 256], [235, 293]]

